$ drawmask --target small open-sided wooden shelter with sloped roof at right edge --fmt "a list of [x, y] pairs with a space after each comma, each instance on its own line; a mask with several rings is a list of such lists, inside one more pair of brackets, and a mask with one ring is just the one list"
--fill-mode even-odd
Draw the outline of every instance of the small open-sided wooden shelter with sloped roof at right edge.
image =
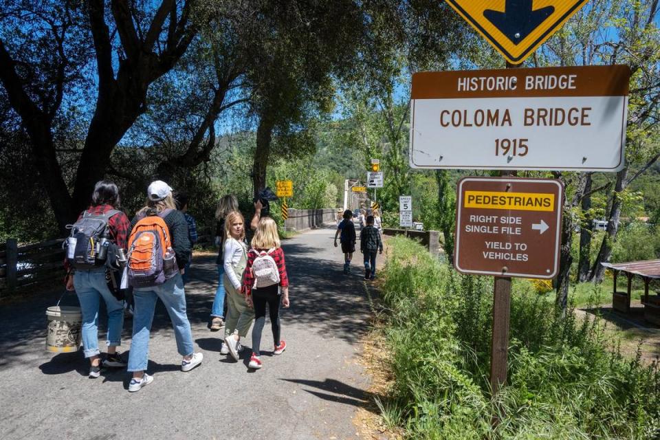
[[[648, 292], [651, 281], [660, 279], [660, 260], [601, 264], [611, 270], [614, 277], [612, 308], [626, 314], [630, 312], [632, 278], [639, 276], [644, 282], [644, 296], [641, 298], [641, 303], [644, 305], [644, 319], [655, 325], [660, 325], [660, 296], [657, 294], [650, 295]], [[619, 272], [628, 278], [626, 292], [619, 292], [617, 290], [617, 276]]]

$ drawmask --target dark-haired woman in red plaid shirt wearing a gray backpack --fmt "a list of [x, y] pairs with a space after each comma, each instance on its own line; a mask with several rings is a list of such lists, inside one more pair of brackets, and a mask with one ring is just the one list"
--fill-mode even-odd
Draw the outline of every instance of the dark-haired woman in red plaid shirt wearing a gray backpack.
[[115, 298], [107, 285], [107, 261], [118, 250], [126, 251], [130, 223], [124, 212], [117, 210], [119, 189], [114, 182], [96, 182], [91, 206], [84, 210], [71, 226], [65, 241], [67, 290], [76, 291], [83, 314], [83, 349], [89, 359], [89, 377], [100, 376], [101, 358], [98, 348], [98, 309], [105, 303], [108, 315], [108, 354], [102, 365], [126, 366], [117, 347], [122, 343], [124, 304]]

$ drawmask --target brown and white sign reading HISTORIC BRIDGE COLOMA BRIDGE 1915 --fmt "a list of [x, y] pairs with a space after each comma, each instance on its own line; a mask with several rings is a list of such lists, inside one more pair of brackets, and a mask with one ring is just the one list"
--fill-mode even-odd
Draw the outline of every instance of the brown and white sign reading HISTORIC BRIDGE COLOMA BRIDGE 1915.
[[621, 170], [629, 79], [624, 65], [413, 74], [410, 166]]

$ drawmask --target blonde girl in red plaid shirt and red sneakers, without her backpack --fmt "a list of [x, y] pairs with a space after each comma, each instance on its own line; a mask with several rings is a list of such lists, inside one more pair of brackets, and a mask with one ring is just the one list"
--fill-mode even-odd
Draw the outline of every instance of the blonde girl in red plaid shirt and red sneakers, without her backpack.
[[[254, 308], [254, 327], [252, 327], [252, 358], [248, 366], [251, 369], [261, 368], [261, 332], [266, 321], [266, 305], [270, 315], [270, 325], [273, 331], [274, 355], [281, 355], [287, 348], [287, 343], [280, 340], [280, 302], [283, 307], [289, 307], [289, 278], [284, 261], [284, 251], [281, 248], [280, 238], [277, 234], [277, 225], [270, 217], [259, 220], [254, 237], [252, 249], [248, 252], [248, 266], [243, 277], [243, 291], [245, 299]], [[270, 252], [269, 252], [270, 251]], [[280, 275], [278, 284], [267, 287], [254, 288], [254, 274], [252, 264], [261, 252], [269, 252], [277, 265]], [[280, 289], [281, 288], [281, 289]], [[281, 292], [280, 292], [281, 290]]]

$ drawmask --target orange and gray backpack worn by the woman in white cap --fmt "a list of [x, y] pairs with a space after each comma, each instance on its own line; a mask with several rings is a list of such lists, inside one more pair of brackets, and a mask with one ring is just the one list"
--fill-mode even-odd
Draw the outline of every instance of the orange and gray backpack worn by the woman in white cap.
[[153, 287], [165, 283], [178, 272], [170, 231], [164, 217], [166, 209], [156, 215], [142, 217], [129, 236], [128, 277], [133, 287]]

